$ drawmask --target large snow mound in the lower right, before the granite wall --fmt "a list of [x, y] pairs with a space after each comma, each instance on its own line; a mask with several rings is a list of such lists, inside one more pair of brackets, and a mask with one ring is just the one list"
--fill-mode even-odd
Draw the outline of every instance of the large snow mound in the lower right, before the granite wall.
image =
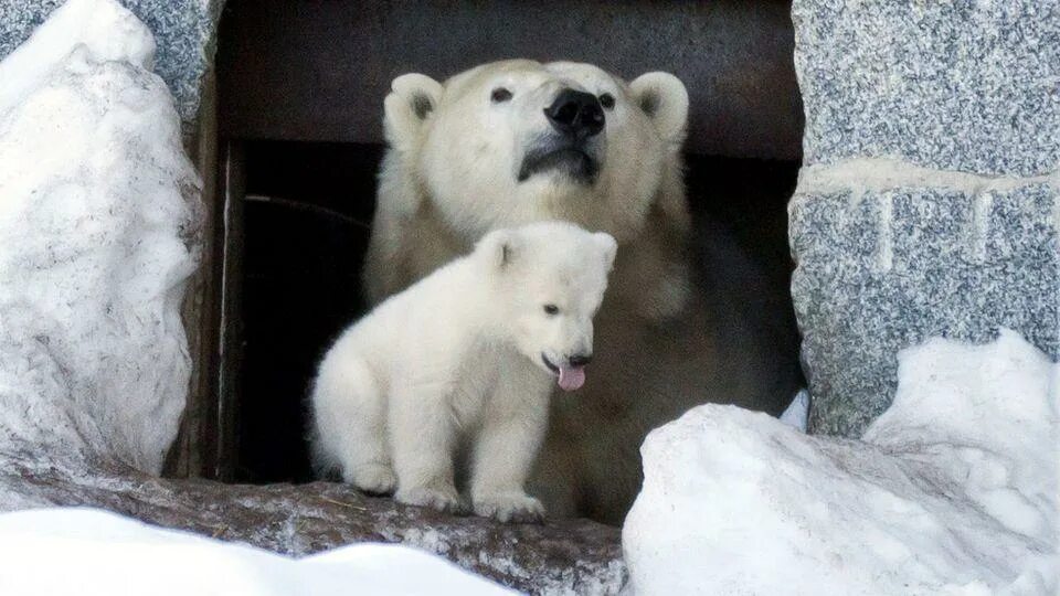
[[636, 594], [1056, 594], [1060, 366], [1010, 331], [899, 360], [861, 441], [717, 405], [653, 432]]

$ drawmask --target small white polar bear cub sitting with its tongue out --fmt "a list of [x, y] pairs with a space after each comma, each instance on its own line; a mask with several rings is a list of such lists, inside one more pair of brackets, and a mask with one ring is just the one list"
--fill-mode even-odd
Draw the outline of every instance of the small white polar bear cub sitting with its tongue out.
[[564, 222], [497, 230], [352, 324], [311, 394], [318, 469], [361, 490], [457, 510], [458, 449], [476, 514], [543, 514], [523, 483], [549, 395], [585, 381], [616, 251]]

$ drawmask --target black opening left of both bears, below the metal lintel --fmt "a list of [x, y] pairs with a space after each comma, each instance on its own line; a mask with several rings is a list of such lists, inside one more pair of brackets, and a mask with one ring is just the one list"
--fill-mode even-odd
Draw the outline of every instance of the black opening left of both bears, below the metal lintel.
[[304, 397], [333, 337], [363, 311], [382, 148], [245, 143], [242, 390], [235, 479], [309, 479]]

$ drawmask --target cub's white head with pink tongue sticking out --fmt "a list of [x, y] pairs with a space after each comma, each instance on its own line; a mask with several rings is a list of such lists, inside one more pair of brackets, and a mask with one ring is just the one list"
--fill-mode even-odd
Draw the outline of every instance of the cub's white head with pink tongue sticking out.
[[617, 243], [565, 222], [487, 234], [475, 258], [487, 270], [497, 324], [520, 352], [573, 391], [593, 358], [593, 317], [607, 288]]

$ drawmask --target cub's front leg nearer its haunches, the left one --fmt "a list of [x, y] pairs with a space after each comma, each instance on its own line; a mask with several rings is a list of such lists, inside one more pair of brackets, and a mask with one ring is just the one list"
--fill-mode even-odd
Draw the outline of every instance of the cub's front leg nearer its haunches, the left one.
[[390, 437], [399, 502], [459, 512], [453, 482], [456, 428], [444, 383], [395, 383]]

